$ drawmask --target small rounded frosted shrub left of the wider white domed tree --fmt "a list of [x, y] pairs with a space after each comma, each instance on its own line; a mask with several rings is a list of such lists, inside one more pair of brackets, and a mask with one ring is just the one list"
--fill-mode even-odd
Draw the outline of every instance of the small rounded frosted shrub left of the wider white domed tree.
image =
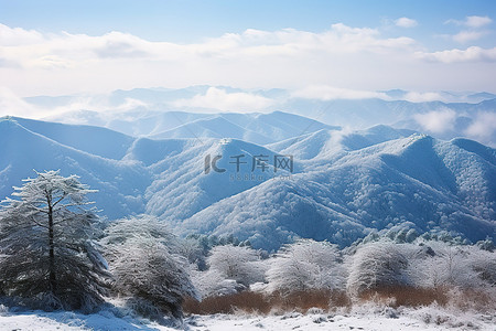
[[258, 252], [246, 246], [216, 246], [212, 248], [207, 258], [209, 270], [218, 273], [225, 279], [249, 286], [263, 281], [265, 263], [260, 260]]

